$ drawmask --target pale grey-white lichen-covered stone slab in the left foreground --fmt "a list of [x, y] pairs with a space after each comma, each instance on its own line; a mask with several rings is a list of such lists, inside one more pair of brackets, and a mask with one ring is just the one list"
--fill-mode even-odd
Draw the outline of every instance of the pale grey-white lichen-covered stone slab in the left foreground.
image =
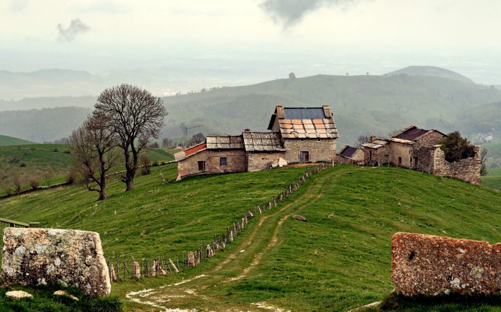
[[98, 233], [49, 228], [4, 229], [4, 285], [59, 281], [88, 295], [110, 293], [108, 266]]

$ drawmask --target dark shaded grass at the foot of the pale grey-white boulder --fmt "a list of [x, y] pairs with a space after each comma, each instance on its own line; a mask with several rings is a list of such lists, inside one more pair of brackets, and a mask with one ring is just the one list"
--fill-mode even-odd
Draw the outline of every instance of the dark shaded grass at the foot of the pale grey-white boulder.
[[[33, 298], [14, 300], [6, 297], [11, 290], [23, 290], [33, 295]], [[68, 296], [54, 295], [56, 290], [65, 290], [79, 298], [78, 301]], [[124, 303], [118, 296], [92, 297], [83, 294], [79, 289], [54, 285], [14, 285], [0, 287], [0, 312], [4, 311], [56, 311], [56, 312], [123, 312]]]

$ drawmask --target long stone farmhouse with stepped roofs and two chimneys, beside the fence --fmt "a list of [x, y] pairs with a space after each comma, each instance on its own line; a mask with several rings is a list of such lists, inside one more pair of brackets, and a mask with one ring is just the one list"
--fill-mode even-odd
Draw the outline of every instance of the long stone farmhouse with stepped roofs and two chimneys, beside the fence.
[[205, 142], [174, 154], [177, 180], [187, 176], [258, 171], [288, 163], [334, 161], [339, 138], [331, 108], [277, 106], [270, 132], [208, 135]]

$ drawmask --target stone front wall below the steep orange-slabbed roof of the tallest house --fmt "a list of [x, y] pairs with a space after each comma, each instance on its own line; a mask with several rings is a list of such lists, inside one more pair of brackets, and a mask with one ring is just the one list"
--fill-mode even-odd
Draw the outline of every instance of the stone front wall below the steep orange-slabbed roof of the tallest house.
[[299, 152], [310, 152], [310, 162], [332, 161], [336, 156], [336, 139], [285, 139], [285, 160], [288, 163], [298, 163]]

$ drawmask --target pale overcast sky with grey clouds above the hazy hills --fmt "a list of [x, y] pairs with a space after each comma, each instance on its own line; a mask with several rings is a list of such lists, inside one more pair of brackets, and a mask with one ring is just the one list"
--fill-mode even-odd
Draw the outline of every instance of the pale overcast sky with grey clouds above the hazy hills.
[[500, 13], [499, 0], [2, 0], [0, 70], [319, 53], [488, 63]]

